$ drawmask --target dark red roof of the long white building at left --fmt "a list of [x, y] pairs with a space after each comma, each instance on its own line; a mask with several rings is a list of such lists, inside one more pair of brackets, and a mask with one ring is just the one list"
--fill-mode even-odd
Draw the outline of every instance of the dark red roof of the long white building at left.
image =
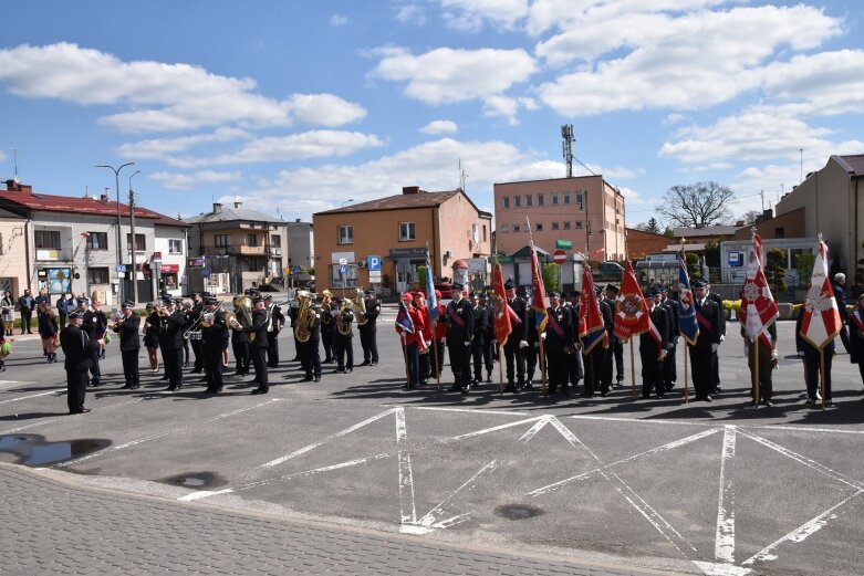
[[[43, 212], [72, 212], [76, 214], [117, 217], [116, 201], [102, 201], [91, 197], [49, 195], [29, 190], [0, 190], [0, 205], [23, 208], [28, 211], [39, 210]], [[123, 217], [128, 217], [129, 206], [119, 202], [119, 213]], [[185, 222], [139, 206], [135, 207], [135, 218], [152, 220], [155, 224], [188, 228], [188, 224]]]

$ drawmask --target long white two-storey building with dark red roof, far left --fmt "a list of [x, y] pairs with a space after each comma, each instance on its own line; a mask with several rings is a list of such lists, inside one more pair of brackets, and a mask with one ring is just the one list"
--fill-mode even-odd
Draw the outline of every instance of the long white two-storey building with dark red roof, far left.
[[[8, 180], [7, 190], [0, 190], [0, 210], [28, 221], [23, 235], [28, 268], [19, 277], [19, 289], [46, 287], [52, 296], [87, 294], [116, 306], [137, 291], [138, 302], [153, 300], [160, 289], [160, 279], [149, 268], [157, 229], [163, 238], [186, 241], [186, 224], [136, 206], [133, 244], [129, 206], [107, 195], [37, 193], [29, 185]], [[179, 279], [184, 272], [178, 266], [175, 274]], [[180, 293], [179, 286], [174, 293]]]

